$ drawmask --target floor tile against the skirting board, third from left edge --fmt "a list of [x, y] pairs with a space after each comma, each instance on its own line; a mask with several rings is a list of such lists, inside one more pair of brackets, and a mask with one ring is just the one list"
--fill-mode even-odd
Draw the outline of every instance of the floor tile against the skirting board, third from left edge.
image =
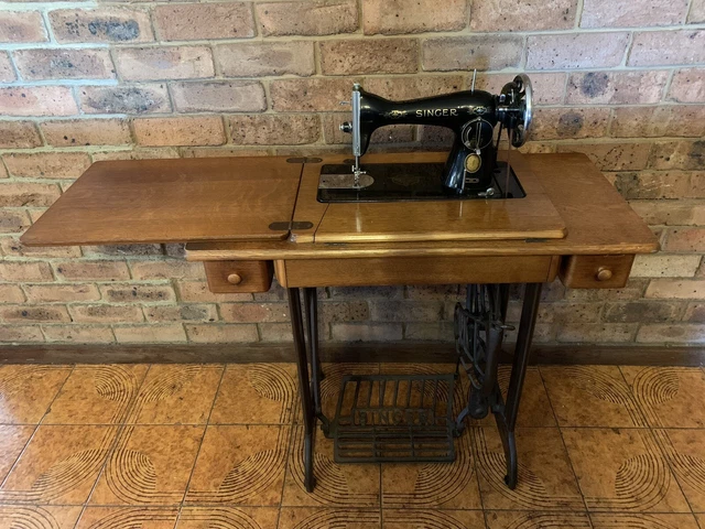
[[129, 423], [205, 424], [224, 366], [154, 365], [140, 388]]

